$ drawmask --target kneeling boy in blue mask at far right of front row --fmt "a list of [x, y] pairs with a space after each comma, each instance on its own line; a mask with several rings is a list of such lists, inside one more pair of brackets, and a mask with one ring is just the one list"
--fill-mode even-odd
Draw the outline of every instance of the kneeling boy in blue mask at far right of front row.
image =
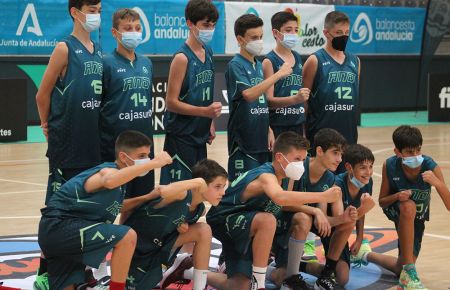
[[399, 289], [426, 289], [416, 272], [425, 221], [429, 220], [431, 186], [450, 211], [450, 192], [441, 168], [429, 156], [422, 155], [422, 134], [403, 125], [392, 134], [395, 155], [383, 164], [379, 203], [393, 221], [398, 234], [398, 258], [374, 252], [357, 255], [359, 263], [376, 263], [399, 275]]

